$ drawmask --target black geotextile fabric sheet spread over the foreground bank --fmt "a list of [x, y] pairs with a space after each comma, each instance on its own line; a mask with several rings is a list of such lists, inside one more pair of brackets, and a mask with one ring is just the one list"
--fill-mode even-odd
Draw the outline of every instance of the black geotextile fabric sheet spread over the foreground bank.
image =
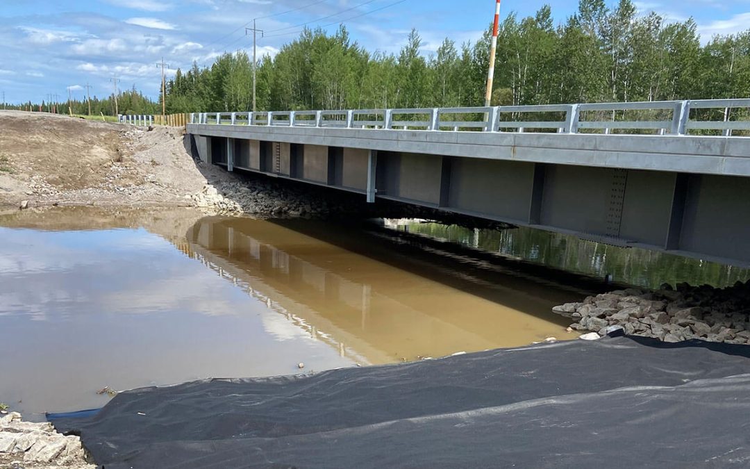
[[118, 394], [106, 469], [750, 467], [750, 347], [610, 337]]

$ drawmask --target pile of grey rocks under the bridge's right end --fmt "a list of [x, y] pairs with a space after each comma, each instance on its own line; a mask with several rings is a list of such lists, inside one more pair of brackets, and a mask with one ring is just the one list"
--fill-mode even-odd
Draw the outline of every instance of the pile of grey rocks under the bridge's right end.
[[729, 344], [750, 343], [750, 281], [723, 289], [709, 285], [678, 284], [676, 290], [628, 288], [583, 302], [552, 308], [575, 320], [571, 329], [605, 335], [608, 326], [622, 326], [625, 334], [677, 342], [698, 338]]

